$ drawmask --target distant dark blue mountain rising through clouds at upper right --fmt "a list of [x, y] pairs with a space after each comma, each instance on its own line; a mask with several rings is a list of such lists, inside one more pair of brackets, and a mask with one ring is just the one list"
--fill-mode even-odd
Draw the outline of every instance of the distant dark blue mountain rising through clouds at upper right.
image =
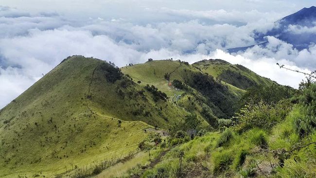
[[[254, 38], [257, 45], [265, 47], [267, 41], [265, 36], [274, 36], [282, 41], [290, 43], [294, 48], [303, 50], [309, 45], [316, 43], [316, 33], [304, 30], [305, 28], [313, 28], [316, 26], [316, 7], [303, 8], [300, 11], [281, 18], [275, 22], [273, 29], [266, 33], [254, 31]], [[237, 53], [238, 51], [246, 51], [253, 47], [240, 47], [228, 49], [229, 53]]]

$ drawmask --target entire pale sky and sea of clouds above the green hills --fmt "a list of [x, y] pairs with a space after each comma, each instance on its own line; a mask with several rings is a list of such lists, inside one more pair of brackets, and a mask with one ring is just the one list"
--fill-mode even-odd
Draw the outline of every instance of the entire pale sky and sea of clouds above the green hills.
[[148, 58], [190, 63], [221, 58], [297, 87], [304, 76], [275, 64], [311, 71], [315, 45], [298, 51], [268, 36], [264, 49], [233, 55], [226, 49], [256, 44], [254, 30], [266, 32], [276, 20], [312, 5], [312, 0], [1, 0], [0, 108], [73, 54], [120, 67]]

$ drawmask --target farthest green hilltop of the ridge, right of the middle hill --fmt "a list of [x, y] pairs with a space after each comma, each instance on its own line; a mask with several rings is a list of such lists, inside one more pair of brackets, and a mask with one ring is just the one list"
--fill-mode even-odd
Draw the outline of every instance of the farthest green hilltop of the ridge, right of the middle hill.
[[267, 86], [275, 83], [241, 65], [232, 65], [220, 59], [199, 61], [194, 63], [193, 66], [239, 89], [247, 89], [252, 85]]

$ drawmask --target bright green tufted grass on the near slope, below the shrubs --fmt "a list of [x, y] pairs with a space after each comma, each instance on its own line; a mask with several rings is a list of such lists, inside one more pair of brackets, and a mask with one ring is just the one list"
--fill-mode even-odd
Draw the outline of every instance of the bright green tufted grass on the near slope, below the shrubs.
[[[210, 175], [219, 178], [240, 178], [247, 171], [252, 173], [249, 177], [258, 178], [315, 178], [316, 147], [315, 144], [309, 143], [316, 142], [316, 132], [299, 138], [293, 123], [294, 118], [301, 115], [301, 111], [295, 106], [286, 119], [275, 125], [272, 131], [253, 128], [243, 134], [232, 133], [232, 138], [221, 147], [216, 146], [221, 137], [218, 132], [195, 138], [173, 148], [153, 169], [147, 170], [142, 178], [157, 175], [158, 170], [164, 170], [165, 175], [169, 177], [176, 177], [180, 151], [184, 152], [184, 178], [204, 178]], [[294, 150], [285, 159], [284, 166], [279, 166], [278, 157], [274, 156], [274, 152], [293, 150], [298, 148], [298, 145], [308, 146]]]

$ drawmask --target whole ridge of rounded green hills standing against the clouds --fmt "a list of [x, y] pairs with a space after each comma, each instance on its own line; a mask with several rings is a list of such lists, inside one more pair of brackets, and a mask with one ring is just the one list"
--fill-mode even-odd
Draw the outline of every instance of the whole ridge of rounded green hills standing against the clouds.
[[245, 89], [273, 83], [222, 60], [119, 69], [68, 57], [0, 110], [0, 177], [67, 177], [70, 168], [136, 150], [191, 113], [199, 129], [217, 128], [218, 119], [233, 116]]

